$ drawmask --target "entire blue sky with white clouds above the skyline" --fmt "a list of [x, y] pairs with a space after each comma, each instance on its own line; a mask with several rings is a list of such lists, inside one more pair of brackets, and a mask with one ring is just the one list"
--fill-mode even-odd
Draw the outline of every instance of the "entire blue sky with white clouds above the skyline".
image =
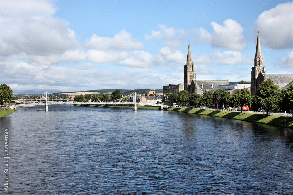
[[292, 73], [291, 1], [0, 0], [0, 81], [16, 91], [162, 89], [250, 81], [259, 28], [267, 73]]

